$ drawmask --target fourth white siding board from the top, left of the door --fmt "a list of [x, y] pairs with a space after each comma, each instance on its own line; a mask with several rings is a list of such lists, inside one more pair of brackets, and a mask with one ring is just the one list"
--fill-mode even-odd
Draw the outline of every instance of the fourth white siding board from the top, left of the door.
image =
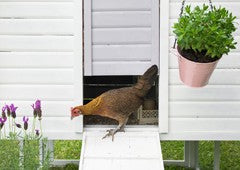
[[0, 52], [0, 68], [72, 68], [72, 52]]

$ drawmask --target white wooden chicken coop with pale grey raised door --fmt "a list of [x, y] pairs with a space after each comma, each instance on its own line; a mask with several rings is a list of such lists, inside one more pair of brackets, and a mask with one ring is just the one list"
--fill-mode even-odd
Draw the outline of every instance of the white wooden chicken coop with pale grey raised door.
[[[90, 132], [105, 131], [116, 122], [99, 117], [71, 121], [70, 107], [87, 103], [106, 90], [133, 85], [156, 64], [158, 81], [130, 118], [126, 134], [143, 142], [146, 138], [141, 134], [147, 132], [154, 134], [147, 136], [154, 140], [186, 141], [185, 160], [175, 163], [197, 167], [197, 141], [240, 140], [240, 1], [213, 0], [213, 5], [237, 16], [234, 38], [238, 44], [221, 59], [209, 85], [197, 89], [181, 83], [177, 58], [170, 52], [175, 39], [172, 26], [181, 3], [0, 0], [0, 102], [14, 102], [20, 116], [32, 117], [28, 106], [41, 99], [42, 127], [50, 145], [59, 139], [83, 139], [89, 141], [82, 151], [87, 154], [93, 140]], [[191, 6], [203, 3], [208, 1], [186, 1]], [[218, 142], [215, 150], [218, 153]], [[84, 153], [82, 157], [87, 159]], [[157, 158], [162, 159], [158, 153]], [[218, 162], [216, 154], [216, 168]]]

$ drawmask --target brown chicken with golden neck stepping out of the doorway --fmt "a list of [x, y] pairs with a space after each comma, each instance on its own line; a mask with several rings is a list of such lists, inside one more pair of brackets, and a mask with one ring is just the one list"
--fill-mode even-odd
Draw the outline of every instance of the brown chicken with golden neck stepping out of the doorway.
[[86, 105], [71, 108], [71, 118], [79, 115], [99, 115], [117, 120], [117, 128], [107, 130], [108, 133], [103, 137], [112, 136], [114, 140], [117, 132], [124, 131], [129, 116], [143, 104], [144, 96], [152, 87], [157, 74], [158, 67], [151, 66], [134, 86], [109, 90]]

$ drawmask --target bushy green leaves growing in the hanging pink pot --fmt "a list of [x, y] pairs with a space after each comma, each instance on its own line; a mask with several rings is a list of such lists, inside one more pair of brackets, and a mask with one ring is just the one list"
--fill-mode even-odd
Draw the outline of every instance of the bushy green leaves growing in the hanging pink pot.
[[206, 51], [212, 58], [220, 58], [236, 48], [232, 33], [235, 16], [225, 8], [209, 6], [186, 6], [182, 17], [174, 24], [173, 29], [177, 37], [178, 46], [182, 50], [192, 49], [195, 52]]

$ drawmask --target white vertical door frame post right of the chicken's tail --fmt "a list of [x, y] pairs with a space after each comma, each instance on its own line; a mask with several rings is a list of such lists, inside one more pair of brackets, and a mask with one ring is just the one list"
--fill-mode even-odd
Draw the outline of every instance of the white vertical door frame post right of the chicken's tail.
[[159, 73], [159, 132], [168, 133], [169, 113], [169, 2], [160, 0], [160, 73]]

